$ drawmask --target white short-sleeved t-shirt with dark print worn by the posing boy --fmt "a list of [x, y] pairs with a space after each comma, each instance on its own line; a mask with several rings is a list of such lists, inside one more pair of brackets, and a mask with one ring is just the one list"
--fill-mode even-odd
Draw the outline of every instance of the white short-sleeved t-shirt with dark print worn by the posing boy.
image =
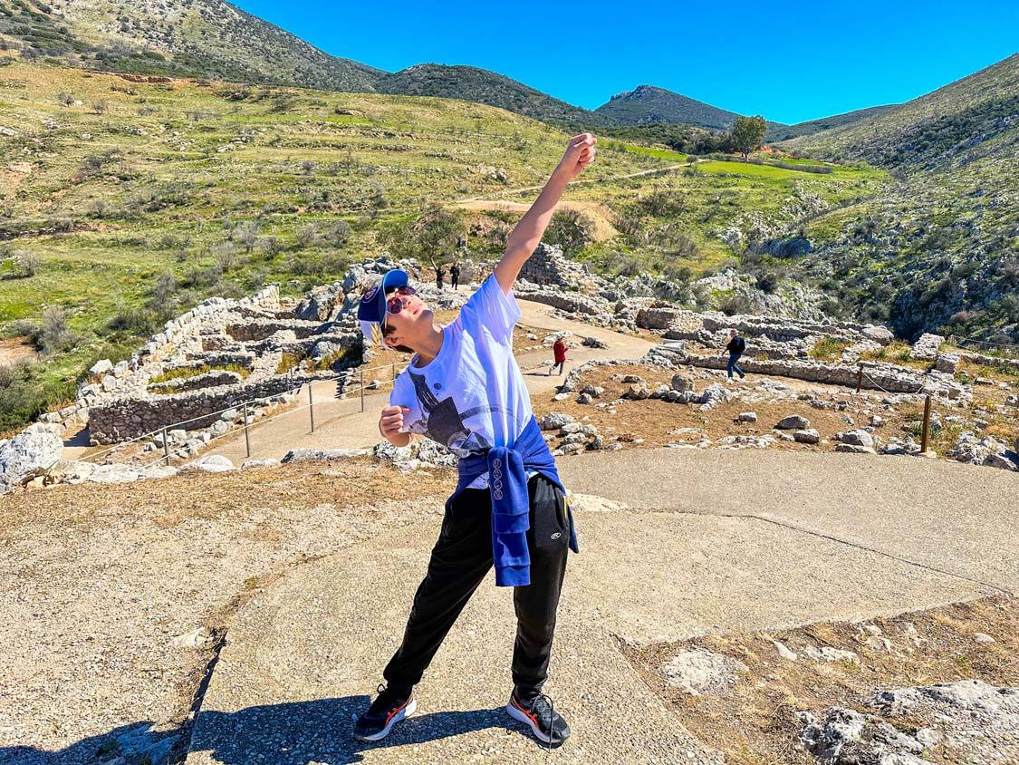
[[[533, 416], [524, 376], [513, 355], [520, 318], [513, 296], [490, 275], [442, 327], [442, 348], [424, 366], [415, 354], [393, 384], [391, 406], [406, 406], [404, 427], [459, 457], [509, 446]], [[487, 473], [471, 488], [488, 486]]]

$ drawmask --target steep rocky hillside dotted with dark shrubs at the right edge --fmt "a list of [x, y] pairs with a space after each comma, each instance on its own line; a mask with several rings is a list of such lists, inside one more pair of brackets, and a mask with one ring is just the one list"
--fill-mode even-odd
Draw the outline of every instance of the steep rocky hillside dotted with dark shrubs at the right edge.
[[1019, 55], [785, 146], [866, 160], [899, 177], [883, 195], [797, 232], [812, 252], [792, 267], [834, 307], [906, 337], [1019, 343]]

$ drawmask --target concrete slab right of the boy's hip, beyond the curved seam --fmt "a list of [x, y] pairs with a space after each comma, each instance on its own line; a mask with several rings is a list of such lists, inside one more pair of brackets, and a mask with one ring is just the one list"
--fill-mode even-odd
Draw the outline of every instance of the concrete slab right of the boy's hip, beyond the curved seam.
[[567, 487], [635, 507], [756, 515], [1019, 592], [1019, 477], [916, 457], [745, 449], [558, 460]]

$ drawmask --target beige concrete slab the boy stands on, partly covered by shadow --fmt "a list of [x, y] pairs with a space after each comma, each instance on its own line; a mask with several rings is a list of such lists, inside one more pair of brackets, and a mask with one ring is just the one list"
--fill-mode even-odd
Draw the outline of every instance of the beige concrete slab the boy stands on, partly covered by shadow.
[[[643, 683], [621, 641], [896, 613], [985, 592], [754, 519], [580, 499], [582, 553], [568, 570], [546, 686], [574, 730], [551, 755], [558, 762], [719, 761]], [[189, 765], [542, 761], [502, 711], [513, 603], [491, 579], [419, 686], [419, 715], [377, 745], [350, 735], [398, 645], [437, 533], [437, 522], [417, 524], [301, 566], [248, 604], [212, 676]]]

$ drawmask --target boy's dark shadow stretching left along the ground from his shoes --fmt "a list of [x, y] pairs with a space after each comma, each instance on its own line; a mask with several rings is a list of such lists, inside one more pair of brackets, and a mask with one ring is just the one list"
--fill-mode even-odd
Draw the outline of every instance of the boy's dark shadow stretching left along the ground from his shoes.
[[[362, 753], [369, 749], [414, 746], [486, 728], [514, 730], [530, 744], [541, 746], [525, 726], [511, 719], [502, 707], [414, 715], [396, 725], [382, 741], [361, 742], [353, 735], [354, 720], [370, 703], [369, 697], [359, 695], [248, 707], [237, 712], [201, 712], [191, 748], [209, 752], [213, 762], [223, 765], [252, 762], [342, 765], [362, 762]], [[0, 746], [0, 765], [101, 762], [106, 756], [97, 754], [110, 752], [118, 736], [129, 736], [130, 731], [144, 729], [148, 724], [124, 725], [83, 738], [58, 752]]]

